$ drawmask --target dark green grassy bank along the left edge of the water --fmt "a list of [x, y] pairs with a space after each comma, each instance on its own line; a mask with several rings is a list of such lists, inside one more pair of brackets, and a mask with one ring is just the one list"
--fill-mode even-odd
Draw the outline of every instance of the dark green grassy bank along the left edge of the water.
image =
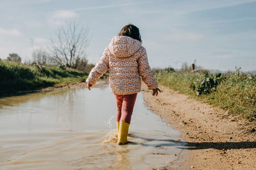
[[88, 73], [58, 66], [29, 66], [0, 61], [0, 96], [20, 91], [38, 90], [60, 83], [72, 83], [87, 78]]

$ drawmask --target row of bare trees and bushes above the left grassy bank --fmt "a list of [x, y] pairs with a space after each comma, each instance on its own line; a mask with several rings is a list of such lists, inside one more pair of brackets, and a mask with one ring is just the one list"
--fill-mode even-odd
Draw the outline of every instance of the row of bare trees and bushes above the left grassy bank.
[[[51, 38], [51, 43], [47, 45], [47, 48], [33, 50], [33, 62], [29, 64], [58, 65], [90, 71], [94, 65], [88, 64], [86, 59], [88, 43], [88, 28], [76, 22], [68, 22], [56, 29], [54, 38]], [[17, 53], [10, 53], [6, 60], [21, 62]]]

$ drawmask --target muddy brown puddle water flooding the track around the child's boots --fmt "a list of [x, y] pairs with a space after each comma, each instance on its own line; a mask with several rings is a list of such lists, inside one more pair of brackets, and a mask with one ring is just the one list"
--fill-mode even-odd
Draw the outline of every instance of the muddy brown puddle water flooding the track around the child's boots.
[[129, 145], [116, 144], [115, 111], [108, 85], [0, 99], [0, 169], [152, 169], [177, 160], [179, 132], [141, 93]]

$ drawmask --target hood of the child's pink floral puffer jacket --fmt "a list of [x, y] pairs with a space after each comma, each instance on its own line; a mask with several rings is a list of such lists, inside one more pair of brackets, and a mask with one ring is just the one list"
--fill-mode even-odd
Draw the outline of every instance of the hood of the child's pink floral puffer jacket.
[[129, 36], [115, 36], [108, 45], [109, 51], [118, 58], [133, 55], [141, 47], [141, 42]]

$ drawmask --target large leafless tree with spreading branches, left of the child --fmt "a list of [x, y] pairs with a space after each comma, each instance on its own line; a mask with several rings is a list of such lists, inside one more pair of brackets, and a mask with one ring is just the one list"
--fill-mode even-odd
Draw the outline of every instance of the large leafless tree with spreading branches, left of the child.
[[62, 66], [76, 67], [77, 59], [86, 59], [88, 29], [76, 22], [59, 27], [51, 39], [51, 59]]

